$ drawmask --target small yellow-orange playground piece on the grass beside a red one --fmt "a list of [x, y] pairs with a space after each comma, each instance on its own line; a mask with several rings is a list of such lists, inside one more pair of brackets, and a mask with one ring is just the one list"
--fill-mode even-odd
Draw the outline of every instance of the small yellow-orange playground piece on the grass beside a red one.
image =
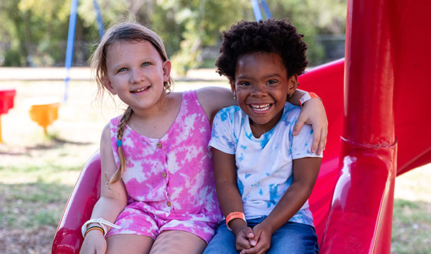
[[59, 117], [59, 99], [55, 97], [41, 97], [33, 99], [30, 103], [30, 119], [43, 127], [45, 136], [48, 135], [47, 127]]

